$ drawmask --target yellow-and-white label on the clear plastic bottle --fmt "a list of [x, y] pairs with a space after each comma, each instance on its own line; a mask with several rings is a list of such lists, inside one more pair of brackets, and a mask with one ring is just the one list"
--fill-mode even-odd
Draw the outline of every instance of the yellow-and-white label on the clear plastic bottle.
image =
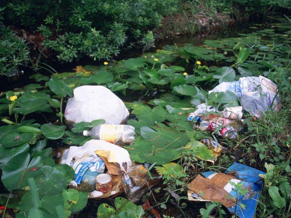
[[123, 125], [101, 125], [100, 126], [100, 140], [115, 144], [116, 142], [123, 142]]

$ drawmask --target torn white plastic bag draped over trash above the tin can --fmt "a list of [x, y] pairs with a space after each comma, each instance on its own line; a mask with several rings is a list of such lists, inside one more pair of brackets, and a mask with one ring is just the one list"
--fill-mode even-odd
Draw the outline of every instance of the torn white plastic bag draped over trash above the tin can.
[[108, 162], [118, 163], [120, 169], [123, 171], [125, 171], [124, 167], [122, 166], [123, 163], [127, 164], [127, 170], [131, 165], [131, 160], [127, 150], [115, 144], [94, 139], [86, 142], [83, 146], [71, 146], [68, 151], [65, 164], [70, 165], [73, 158], [78, 159], [86, 154], [105, 157], [107, 158]]

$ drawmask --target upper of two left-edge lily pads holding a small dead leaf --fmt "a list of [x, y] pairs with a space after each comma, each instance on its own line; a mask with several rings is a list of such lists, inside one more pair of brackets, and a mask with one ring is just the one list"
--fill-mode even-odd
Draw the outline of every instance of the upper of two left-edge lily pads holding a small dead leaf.
[[4, 148], [9, 148], [29, 142], [33, 137], [33, 133], [19, 133], [16, 130], [10, 130], [0, 135], [0, 144]]

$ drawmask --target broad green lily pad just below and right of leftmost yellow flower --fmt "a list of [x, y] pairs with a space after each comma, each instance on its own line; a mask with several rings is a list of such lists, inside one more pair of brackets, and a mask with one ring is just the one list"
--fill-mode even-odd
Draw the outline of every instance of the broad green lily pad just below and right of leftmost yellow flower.
[[27, 115], [36, 111], [47, 111], [51, 106], [46, 99], [26, 99], [16, 104], [17, 108], [13, 111]]

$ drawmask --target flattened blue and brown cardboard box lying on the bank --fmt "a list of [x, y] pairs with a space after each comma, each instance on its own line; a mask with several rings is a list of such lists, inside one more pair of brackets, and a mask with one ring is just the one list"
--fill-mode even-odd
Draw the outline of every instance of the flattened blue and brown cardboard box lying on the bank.
[[238, 217], [252, 218], [263, 185], [259, 174], [265, 173], [239, 163], [233, 163], [224, 174], [205, 172], [188, 184], [188, 199], [221, 202]]

